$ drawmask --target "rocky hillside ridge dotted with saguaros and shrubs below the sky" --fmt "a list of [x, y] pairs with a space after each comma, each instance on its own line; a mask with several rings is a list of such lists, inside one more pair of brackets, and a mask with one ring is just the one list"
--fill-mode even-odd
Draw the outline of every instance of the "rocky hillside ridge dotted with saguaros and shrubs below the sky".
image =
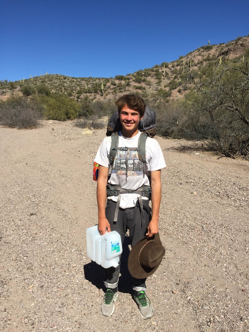
[[[249, 35], [220, 44], [208, 44], [189, 52], [171, 62], [162, 62], [126, 75], [110, 78], [69, 77], [60, 74], [35, 76], [15, 82], [0, 81], [0, 100], [6, 100], [13, 93], [31, 96], [33, 94], [66, 94], [75, 100], [107, 100], [125, 93], [137, 93], [149, 100], [172, 100], [181, 98], [191, 88], [193, 75], [205, 75], [211, 64], [219, 61], [238, 60], [249, 53]], [[44, 88], [46, 86], [46, 89]], [[47, 91], [47, 92], [46, 92]]]

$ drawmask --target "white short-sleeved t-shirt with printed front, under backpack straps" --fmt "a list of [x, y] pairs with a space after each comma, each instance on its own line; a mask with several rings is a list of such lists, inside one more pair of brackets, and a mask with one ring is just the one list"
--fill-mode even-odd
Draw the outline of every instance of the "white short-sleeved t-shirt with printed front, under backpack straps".
[[[138, 138], [141, 134], [139, 131], [133, 137], [125, 137], [122, 135], [121, 131], [119, 134], [119, 147], [137, 147]], [[105, 137], [101, 143], [94, 161], [101, 166], [109, 168], [109, 151], [111, 148], [112, 138], [111, 136]], [[166, 167], [162, 150], [158, 142], [148, 137], [146, 140], [146, 168], [150, 173], [151, 171], [157, 171], [161, 168]], [[126, 158], [127, 151], [117, 151], [116, 158], [113, 163], [113, 170], [108, 180], [111, 185], [117, 185], [124, 189], [136, 190], [143, 185], [149, 185], [149, 179], [146, 174], [143, 174], [143, 163], [138, 159], [137, 151], [131, 150], [128, 157], [128, 177], [126, 177]], [[136, 205], [138, 194], [122, 194], [120, 207], [134, 207]], [[108, 197], [112, 201], [117, 202], [118, 197], [111, 196]], [[143, 198], [144, 199], [144, 198]]]

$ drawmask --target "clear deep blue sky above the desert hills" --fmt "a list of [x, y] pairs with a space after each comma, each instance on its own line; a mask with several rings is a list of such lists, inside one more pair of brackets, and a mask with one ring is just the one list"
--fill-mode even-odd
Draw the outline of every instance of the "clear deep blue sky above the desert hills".
[[1, 4], [0, 80], [114, 77], [249, 34], [248, 1], [12, 0]]

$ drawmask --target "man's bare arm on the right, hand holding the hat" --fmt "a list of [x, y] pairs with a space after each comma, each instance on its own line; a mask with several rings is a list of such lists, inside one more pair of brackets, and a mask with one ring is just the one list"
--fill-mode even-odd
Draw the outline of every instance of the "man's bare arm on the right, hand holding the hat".
[[152, 171], [150, 176], [152, 216], [148, 224], [148, 232], [145, 234], [148, 238], [159, 232], [158, 221], [161, 204], [161, 170]]

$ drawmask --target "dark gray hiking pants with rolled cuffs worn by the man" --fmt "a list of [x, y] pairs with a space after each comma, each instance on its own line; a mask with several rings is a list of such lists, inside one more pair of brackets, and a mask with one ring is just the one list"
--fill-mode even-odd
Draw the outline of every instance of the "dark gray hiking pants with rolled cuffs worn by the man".
[[[131, 247], [133, 247], [138, 241], [144, 238], [145, 234], [147, 233], [147, 226], [151, 219], [149, 200], [145, 201], [143, 200], [144, 222], [143, 220], [141, 220], [141, 211], [138, 201], [135, 207], [129, 207], [125, 209], [119, 208], [118, 221], [116, 223], [113, 221], [115, 209], [116, 209], [116, 202], [107, 200], [106, 218], [110, 223], [111, 230], [112, 231], [116, 230], [120, 234], [121, 241], [123, 244], [125, 233], [128, 228]], [[119, 265], [116, 268], [110, 267], [108, 269], [104, 269], [106, 276], [104, 284], [107, 288], [115, 288], [118, 286], [119, 274], [120, 274], [120, 261]], [[133, 290], [137, 291], [146, 290], [145, 281], [146, 278], [144, 279], [133, 278]]]

